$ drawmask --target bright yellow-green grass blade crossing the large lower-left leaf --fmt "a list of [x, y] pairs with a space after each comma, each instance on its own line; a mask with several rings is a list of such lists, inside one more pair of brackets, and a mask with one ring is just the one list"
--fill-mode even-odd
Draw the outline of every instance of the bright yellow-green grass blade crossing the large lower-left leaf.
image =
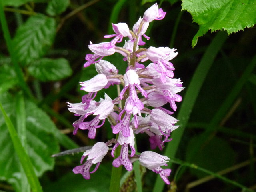
[[4, 120], [6, 122], [7, 128], [9, 130], [10, 136], [12, 138], [12, 143], [14, 145], [14, 149], [16, 153], [18, 154], [20, 163], [22, 165], [22, 168], [24, 169], [24, 172], [28, 178], [28, 182], [30, 184], [30, 187], [33, 192], [43, 192], [42, 186], [40, 185], [40, 182], [38, 178], [36, 177], [36, 173], [34, 172], [34, 166], [32, 165], [30, 158], [28, 157], [28, 154], [26, 153], [25, 149], [23, 148], [20, 139], [18, 137], [18, 134], [10, 120], [10, 118], [7, 116], [2, 104], [0, 103], [0, 109], [2, 111], [2, 114], [4, 115]]

